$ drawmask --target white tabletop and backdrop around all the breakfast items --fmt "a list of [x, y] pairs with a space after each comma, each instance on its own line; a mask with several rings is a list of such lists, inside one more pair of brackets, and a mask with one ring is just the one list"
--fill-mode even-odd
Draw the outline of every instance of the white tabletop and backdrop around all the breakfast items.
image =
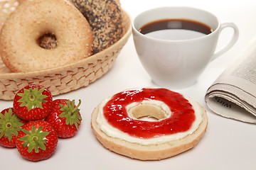
[[[211, 62], [198, 82], [188, 89], [178, 90], [201, 103], [208, 112], [208, 130], [203, 139], [188, 152], [161, 161], [146, 161], [120, 156], [102, 147], [90, 128], [90, 114], [102, 99], [124, 89], [155, 86], [137, 58], [132, 36], [117, 57], [112, 69], [90, 86], [55, 96], [82, 100], [82, 125], [78, 135], [60, 139], [50, 159], [29, 162], [17, 149], [0, 147], [0, 169], [256, 169], [256, 126], [222, 118], [209, 111], [204, 102], [208, 87], [218, 75], [238, 57], [238, 53], [255, 38], [255, 0], [121, 0], [122, 8], [134, 18], [157, 6], [193, 6], [203, 8], [220, 18], [233, 21], [240, 29], [238, 42], [224, 55]], [[230, 38], [223, 32], [219, 45]], [[11, 107], [11, 101], [0, 101], [0, 109]]]

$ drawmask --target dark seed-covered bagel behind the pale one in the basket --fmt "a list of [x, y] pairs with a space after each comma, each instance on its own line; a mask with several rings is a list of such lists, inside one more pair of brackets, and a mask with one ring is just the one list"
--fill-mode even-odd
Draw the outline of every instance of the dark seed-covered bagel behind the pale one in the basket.
[[70, 0], [92, 27], [95, 54], [122, 38], [122, 13], [118, 0]]

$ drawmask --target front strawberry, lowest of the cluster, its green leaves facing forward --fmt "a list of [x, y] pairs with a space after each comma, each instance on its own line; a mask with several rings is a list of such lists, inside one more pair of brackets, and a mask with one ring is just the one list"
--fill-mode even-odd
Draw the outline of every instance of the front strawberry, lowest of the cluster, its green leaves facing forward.
[[48, 159], [55, 152], [58, 135], [44, 120], [26, 123], [18, 132], [16, 147], [22, 157], [30, 161]]

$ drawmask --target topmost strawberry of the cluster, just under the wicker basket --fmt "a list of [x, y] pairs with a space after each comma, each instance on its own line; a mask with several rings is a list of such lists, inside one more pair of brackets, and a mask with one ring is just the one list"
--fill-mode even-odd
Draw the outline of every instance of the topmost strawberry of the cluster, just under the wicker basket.
[[43, 120], [52, 110], [53, 96], [41, 85], [25, 86], [14, 96], [14, 111], [23, 120]]

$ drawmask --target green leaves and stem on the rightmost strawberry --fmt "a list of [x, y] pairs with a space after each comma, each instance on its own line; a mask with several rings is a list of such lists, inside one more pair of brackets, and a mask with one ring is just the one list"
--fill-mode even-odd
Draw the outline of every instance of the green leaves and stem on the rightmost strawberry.
[[60, 103], [60, 111], [63, 111], [59, 115], [60, 118], [65, 118], [66, 125], [73, 125], [75, 124], [75, 128], [78, 129], [78, 124], [81, 123], [81, 116], [79, 113], [80, 109], [78, 108], [81, 104], [81, 100], [79, 100], [78, 106], [75, 107], [75, 100], [71, 103], [68, 100], [66, 105]]

